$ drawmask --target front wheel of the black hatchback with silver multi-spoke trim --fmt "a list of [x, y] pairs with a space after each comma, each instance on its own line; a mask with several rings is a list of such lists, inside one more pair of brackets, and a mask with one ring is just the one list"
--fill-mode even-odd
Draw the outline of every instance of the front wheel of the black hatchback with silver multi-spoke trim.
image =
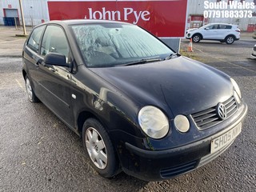
[[118, 174], [118, 161], [110, 137], [100, 122], [89, 118], [82, 127], [82, 142], [90, 164], [105, 178]]

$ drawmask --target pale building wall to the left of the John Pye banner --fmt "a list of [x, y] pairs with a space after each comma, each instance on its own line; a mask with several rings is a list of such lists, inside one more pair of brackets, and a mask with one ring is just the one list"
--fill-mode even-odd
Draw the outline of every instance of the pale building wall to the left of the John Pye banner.
[[[4, 0], [0, 1], [0, 25], [4, 24], [3, 9], [8, 9], [8, 5], [11, 9], [18, 9], [18, 16], [20, 23], [22, 24], [22, 16], [20, 12], [20, 6], [18, 0]], [[47, 0], [22, 0], [22, 8], [24, 14], [24, 20], [27, 26], [36, 26], [44, 21], [49, 21]]]

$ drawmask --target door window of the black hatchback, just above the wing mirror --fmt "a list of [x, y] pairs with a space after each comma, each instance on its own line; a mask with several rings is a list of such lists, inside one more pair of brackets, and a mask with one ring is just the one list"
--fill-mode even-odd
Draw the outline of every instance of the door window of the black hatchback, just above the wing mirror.
[[40, 54], [44, 56], [49, 52], [64, 54], [66, 61], [69, 58], [70, 48], [66, 40], [66, 35], [59, 26], [47, 26], [46, 32], [43, 35]]

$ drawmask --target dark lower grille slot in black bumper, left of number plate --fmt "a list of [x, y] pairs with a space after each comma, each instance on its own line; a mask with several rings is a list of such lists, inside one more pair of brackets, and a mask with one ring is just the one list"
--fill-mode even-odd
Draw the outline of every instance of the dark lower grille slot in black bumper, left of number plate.
[[194, 170], [196, 166], [198, 166], [198, 161], [189, 162], [180, 166], [162, 169], [160, 170], [160, 174], [162, 178], [172, 178], [179, 174], [184, 174], [190, 170]]

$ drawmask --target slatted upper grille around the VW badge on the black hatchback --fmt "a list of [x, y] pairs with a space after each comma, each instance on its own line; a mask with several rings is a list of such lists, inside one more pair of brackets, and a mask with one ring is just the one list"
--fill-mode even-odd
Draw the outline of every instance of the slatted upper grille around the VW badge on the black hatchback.
[[[230, 118], [230, 116], [232, 116], [238, 110], [237, 103], [235, 102], [233, 96], [223, 102], [223, 104], [226, 106], [227, 118]], [[217, 106], [191, 114], [191, 116], [200, 130], [206, 130], [211, 126], [215, 126], [223, 121], [218, 117]]]

